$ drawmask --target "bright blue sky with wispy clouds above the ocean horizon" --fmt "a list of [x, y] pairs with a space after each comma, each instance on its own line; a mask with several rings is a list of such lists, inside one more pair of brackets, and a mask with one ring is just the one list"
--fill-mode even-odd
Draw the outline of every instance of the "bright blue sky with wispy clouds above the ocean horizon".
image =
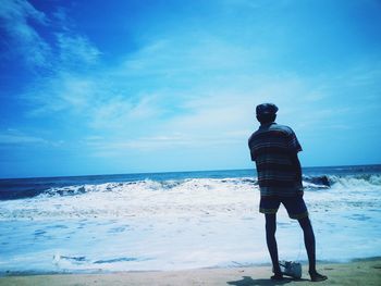
[[380, 1], [0, 5], [0, 177], [253, 167], [255, 107], [302, 164], [381, 163]]

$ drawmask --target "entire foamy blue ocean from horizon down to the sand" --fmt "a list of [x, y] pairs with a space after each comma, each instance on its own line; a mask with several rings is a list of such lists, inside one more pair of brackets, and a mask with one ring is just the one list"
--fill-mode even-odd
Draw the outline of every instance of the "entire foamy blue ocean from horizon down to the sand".
[[[320, 261], [381, 256], [381, 165], [306, 167]], [[0, 179], [0, 275], [269, 263], [255, 170]], [[307, 261], [283, 207], [280, 259]]]

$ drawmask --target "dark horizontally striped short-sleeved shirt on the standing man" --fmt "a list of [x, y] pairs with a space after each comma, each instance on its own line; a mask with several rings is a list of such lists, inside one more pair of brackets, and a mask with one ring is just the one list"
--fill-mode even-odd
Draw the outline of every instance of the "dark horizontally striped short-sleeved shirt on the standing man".
[[265, 124], [249, 140], [256, 162], [261, 196], [291, 197], [303, 192], [291, 154], [302, 151], [292, 128], [276, 123]]

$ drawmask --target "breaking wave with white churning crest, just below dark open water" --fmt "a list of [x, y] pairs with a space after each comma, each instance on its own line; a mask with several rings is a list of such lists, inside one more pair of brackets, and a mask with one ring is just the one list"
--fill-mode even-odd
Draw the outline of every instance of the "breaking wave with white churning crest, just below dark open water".
[[[369, 187], [380, 186], [381, 175], [379, 174], [360, 174], [360, 175], [319, 175], [319, 176], [304, 176], [303, 177], [305, 190], [318, 190], [328, 189], [334, 187]], [[7, 187], [2, 187], [0, 191], [0, 200], [14, 200], [25, 199], [34, 197], [57, 197], [57, 196], [79, 196], [88, 192], [121, 192], [121, 191], [165, 191], [172, 189], [187, 189], [195, 190], [211, 189], [218, 187], [230, 187], [241, 189], [242, 187], [248, 187], [249, 189], [257, 188], [257, 179], [250, 177], [237, 177], [237, 178], [187, 178], [187, 179], [169, 179], [169, 181], [152, 181], [144, 179], [136, 182], [124, 183], [103, 183], [103, 184], [83, 184], [71, 185], [62, 187], [45, 187], [33, 188], [33, 186], [26, 186], [24, 188], [11, 189], [7, 191]]]

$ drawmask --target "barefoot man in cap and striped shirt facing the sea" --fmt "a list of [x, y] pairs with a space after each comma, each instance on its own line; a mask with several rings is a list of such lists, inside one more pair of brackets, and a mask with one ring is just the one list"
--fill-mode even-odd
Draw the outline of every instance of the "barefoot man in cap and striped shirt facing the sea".
[[315, 235], [303, 199], [302, 167], [297, 157], [302, 147], [290, 127], [274, 122], [276, 111], [278, 107], [272, 103], [256, 108], [260, 127], [248, 140], [251, 160], [256, 162], [258, 173], [259, 211], [266, 217], [266, 240], [274, 273], [271, 278], [283, 278], [275, 239], [276, 211], [282, 203], [288, 216], [298, 220], [303, 229], [311, 281], [324, 281], [327, 276], [316, 270]]

